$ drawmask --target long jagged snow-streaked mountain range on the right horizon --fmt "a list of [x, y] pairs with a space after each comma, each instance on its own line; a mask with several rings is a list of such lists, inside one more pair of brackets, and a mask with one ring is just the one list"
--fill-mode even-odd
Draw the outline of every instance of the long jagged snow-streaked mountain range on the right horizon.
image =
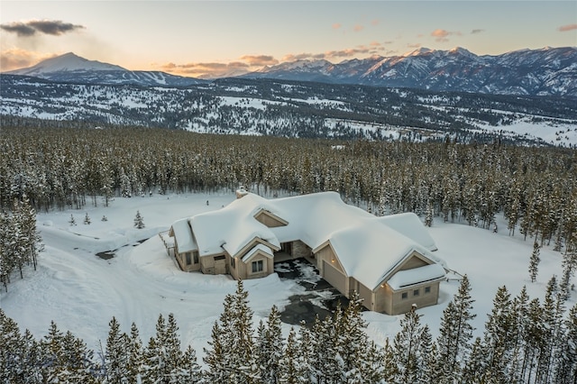
[[577, 96], [577, 47], [516, 50], [478, 56], [462, 47], [419, 48], [399, 56], [298, 60], [244, 78], [314, 80], [494, 95]]

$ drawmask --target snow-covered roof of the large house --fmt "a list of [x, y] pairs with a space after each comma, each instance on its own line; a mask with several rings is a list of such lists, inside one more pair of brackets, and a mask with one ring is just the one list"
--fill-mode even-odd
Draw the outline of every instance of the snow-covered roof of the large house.
[[[289, 224], [269, 228], [255, 219], [261, 210]], [[189, 221], [201, 257], [224, 250], [236, 256], [255, 238], [273, 248], [280, 247], [281, 242], [300, 240], [316, 250], [330, 242], [346, 275], [371, 289], [388, 279], [413, 251], [436, 261], [430, 253], [436, 250], [435, 242], [417, 215], [376, 217], [345, 204], [336, 192], [272, 200], [248, 193]]]

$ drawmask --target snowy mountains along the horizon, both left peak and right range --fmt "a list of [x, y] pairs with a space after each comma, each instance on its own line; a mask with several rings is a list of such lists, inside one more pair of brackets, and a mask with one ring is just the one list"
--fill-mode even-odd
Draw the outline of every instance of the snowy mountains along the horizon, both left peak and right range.
[[[5, 74], [65, 83], [144, 87], [189, 87], [208, 81], [160, 71], [132, 71], [83, 59], [74, 53]], [[491, 95], [577, 96], [577, 47], [516, 50], [496, 56], [478, 56], [463, 48], [421, 48], [400, 56], [373, 56], [337, 64], [324, 59], [302, 59], [265, 67], [241, 77]]]

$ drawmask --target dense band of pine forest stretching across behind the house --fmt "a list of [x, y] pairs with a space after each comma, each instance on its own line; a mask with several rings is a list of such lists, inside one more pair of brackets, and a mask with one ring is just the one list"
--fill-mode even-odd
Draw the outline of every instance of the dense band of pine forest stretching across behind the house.
[[[577, 151], [492, 144], [367, 142], [195, 134], [142, 128], [23, 128], [0, 134], [0, 206], [38, 210], [149, 192], [338, 191], [377, 215], [444, 221], [577, 242]], [[504, 228], [500, 228], [504, 230]]]

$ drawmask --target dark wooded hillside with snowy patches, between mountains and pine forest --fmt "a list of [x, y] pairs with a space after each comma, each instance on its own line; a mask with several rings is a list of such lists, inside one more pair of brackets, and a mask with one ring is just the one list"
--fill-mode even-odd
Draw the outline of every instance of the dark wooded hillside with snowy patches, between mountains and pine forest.
[[[110, 72], [110, 71], [108, 71]], [[58, 83], [0, 77], [0, 114], [95, 126], [384, 141], [577, 144], [574, 100], [490, 96], [279, 80], [190, 87]]]

